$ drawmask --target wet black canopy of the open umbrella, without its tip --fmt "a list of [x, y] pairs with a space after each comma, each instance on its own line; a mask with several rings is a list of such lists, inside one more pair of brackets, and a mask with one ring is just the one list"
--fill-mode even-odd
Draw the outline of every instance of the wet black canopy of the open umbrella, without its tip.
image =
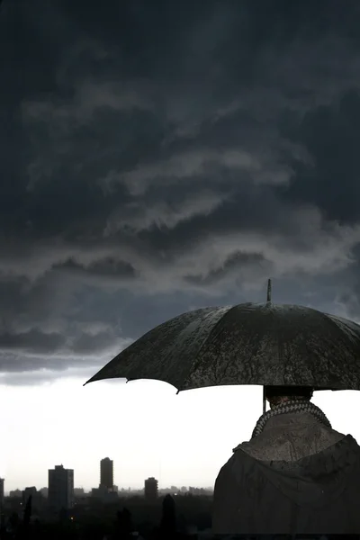
[[271, 302], [190, 311], [149, 331], [87, 383], [116, 377], [157, 379], [179, 391], [223, 384], [360, 390], [360, 326]]

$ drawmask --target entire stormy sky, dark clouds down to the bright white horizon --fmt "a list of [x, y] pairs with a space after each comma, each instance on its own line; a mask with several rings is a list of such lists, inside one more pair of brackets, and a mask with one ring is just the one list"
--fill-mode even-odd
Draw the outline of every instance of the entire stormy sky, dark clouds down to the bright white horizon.
[[[4, 0], [6, 491], [60, 463], [94, 486], [106, 455], [120, 487], [214, 482], [259, 388], [82, 386], [166, 319], [272, 277], [360, 320], [359, 24], [357, 0]], [[356, 392], [315, 402], [360, 437]]]

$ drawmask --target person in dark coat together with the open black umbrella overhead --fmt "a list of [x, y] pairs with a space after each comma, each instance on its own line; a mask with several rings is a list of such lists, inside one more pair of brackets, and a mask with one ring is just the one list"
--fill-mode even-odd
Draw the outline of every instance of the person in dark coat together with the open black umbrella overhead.
[[167, 320], [87, 383], [155, 379], [177, 392], [261, 385], [264, 414], [216, 482], [214, 532], [360, 533], [359, 447], [332, 431], [310, 402], [312, 390], [360, 390], [360, 326], [310, 307], [275, 304], [271, 292], [268, 280], [266, 303], [202, 308]]

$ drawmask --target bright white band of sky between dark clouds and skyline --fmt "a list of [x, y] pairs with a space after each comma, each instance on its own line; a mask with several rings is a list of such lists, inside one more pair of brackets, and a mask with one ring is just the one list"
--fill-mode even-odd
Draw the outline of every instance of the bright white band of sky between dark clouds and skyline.
[[[157, 381], [91, 383], [61, 379], [41, 386], [0, 386], [3, 426], [0, 477], [6, 493], [48, 486], [48, 469], [74, 469], [85, 491], [100, 481], [100, 460], [113, 460], [114, 484], [143, 488], [213, 486], [232, 448], [248, 440], [262, 413], [261, 386], [180, 392]], [[349, 411], [360, 392], [315, 392], [333, 428], [360, 438]], [[0, 415], [3, 416], [3, 415]]]

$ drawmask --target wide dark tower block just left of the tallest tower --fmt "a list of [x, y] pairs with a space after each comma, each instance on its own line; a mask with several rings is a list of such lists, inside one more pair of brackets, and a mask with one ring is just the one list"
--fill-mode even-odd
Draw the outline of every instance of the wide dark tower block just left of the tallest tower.
[[74, 506], [74, 471], [56, 465], [49, 469], [49, 508], [54, 511], [71, 509]]

